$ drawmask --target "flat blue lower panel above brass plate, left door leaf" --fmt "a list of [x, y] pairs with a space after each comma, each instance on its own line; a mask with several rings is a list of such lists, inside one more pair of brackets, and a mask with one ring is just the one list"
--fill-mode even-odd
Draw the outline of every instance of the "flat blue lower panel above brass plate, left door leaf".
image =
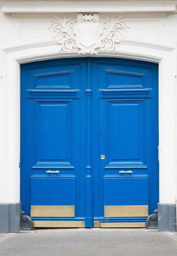
[[31, 205], [75, 205], [75, 177], [32, 177]]

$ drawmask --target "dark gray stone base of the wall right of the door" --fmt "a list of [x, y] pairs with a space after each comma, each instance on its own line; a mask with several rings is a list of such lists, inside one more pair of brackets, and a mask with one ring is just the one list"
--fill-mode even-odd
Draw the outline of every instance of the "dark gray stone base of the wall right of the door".
[[176, 231], [176, 205], [158, 204], [158, 230]]

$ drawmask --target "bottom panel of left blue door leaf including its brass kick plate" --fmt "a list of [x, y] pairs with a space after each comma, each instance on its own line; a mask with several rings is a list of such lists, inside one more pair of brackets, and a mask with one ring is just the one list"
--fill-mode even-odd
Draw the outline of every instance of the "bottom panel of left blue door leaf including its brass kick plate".
[[32, 217], [74, 217], [74, 209], [75, 177], [31, 178]]

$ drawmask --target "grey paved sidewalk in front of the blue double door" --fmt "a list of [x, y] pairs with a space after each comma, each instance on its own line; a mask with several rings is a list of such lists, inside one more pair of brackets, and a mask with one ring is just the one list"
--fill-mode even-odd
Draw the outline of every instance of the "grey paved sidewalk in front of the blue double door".
[[[1, 234], [2, 235], [2, 234]], [[37, 230], [0, 236], [0, 256], [176, 256], [176, 233], [126, 229]]]

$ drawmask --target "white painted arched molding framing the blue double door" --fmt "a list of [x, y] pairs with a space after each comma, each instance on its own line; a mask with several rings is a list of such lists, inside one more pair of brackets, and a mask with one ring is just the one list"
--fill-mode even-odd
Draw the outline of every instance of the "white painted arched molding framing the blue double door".
[[59, 53], [56, 41], [3, 49], [0, 201], [20, 202], [20, 64], [52, 58], [87, 56], [131, 58], [159, 63], [160, 203], [175, 204], [175, 48], [130, 40], [122, 40], [118, 52], [98, 52], [98, 55]]

